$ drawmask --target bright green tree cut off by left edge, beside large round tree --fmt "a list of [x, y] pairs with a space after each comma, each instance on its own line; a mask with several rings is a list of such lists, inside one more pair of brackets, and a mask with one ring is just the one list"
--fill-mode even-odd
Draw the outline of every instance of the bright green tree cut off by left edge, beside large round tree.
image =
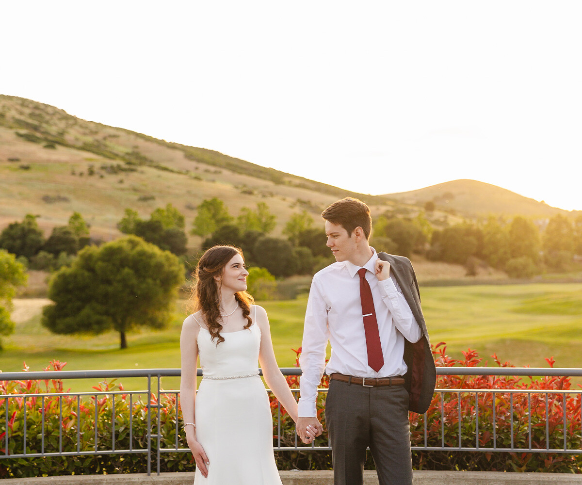
[[26, 278], [24, 265], [16, 261], [14, 254], [0, 249], [0, 335], [10, 335], [14, 331], [14, 322], [10, 320], [12, 298], [16, 294], [17, 286], [26, 283]]

